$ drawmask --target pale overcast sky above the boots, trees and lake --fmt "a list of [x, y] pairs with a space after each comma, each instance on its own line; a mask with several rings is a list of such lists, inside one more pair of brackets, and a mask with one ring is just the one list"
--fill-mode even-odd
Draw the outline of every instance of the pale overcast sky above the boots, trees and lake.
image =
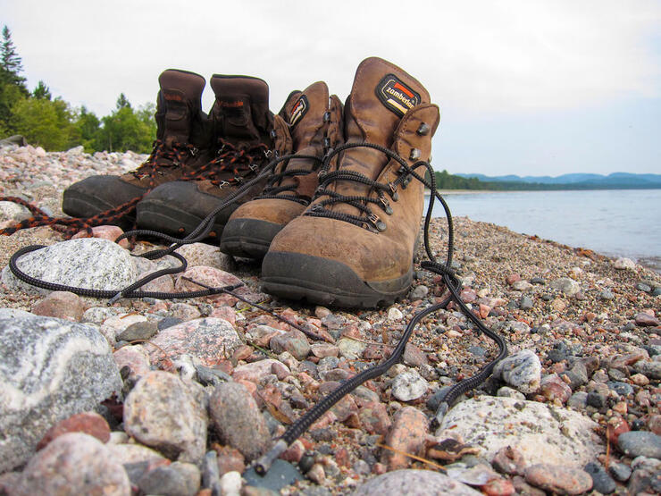
[[0, 0], [0, 24], [29, 88], [99, 116], [166, 68], [261, 77], [275, 112], [315, 80], [344, 99], [378, 55], [439, 104], [437, 170], [661, 173], [659, 1]]

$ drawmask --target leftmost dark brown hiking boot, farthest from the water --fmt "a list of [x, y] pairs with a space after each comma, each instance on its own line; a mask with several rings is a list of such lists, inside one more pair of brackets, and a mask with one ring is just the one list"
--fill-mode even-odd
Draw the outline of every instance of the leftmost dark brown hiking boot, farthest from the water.
[[[63, 211], [73, 217], [91, 217], [141, 198], [147, 191], [206, 164], [209, 129], [200, 98], [205, 79], [188, 71], [168, 69], [158, 78], [156, 140], [146, 162], [121, 176], [97, 175], [64, 191]], [[132, 212], [132, 210], [131, 210]], [[121, 219], [130, 226], [134, 214]]]

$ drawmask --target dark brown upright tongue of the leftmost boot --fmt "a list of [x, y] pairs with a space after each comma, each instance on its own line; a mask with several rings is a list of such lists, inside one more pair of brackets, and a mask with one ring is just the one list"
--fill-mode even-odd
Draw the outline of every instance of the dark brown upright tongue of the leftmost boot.
[[205, 78], [187, 71], [168, 69], [158, 78], [161, 91], [158, 97], [162, 114], [163, 141], [168, 147], [174, 143], [188, 143], [191, 119], [199, 112]]

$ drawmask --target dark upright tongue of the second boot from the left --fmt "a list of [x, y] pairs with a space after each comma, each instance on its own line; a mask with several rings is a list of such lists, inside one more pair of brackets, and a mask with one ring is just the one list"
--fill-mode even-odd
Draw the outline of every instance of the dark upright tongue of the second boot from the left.
[[220, 124], [221, 138], [236, 147], [263, 142], [269, 113], [266, 82], [249, 76], [214, 74], [211, 87], [216, 97], [213, 118]]

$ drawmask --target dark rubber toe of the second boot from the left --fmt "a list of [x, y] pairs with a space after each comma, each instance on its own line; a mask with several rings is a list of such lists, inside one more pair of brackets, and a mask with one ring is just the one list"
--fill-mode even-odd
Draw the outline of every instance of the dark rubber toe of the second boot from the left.
[[[137, 222], [140, 229], [151, 229], [172, 236], [187, 236], [197, 229], [203, 218], [196, 214], [172, 206], [165, 202], [150, 199], [142, 200], [138, 205]], [[218, 238], [225, 227], [224, 223], [213, 223], [210, 238]]]

